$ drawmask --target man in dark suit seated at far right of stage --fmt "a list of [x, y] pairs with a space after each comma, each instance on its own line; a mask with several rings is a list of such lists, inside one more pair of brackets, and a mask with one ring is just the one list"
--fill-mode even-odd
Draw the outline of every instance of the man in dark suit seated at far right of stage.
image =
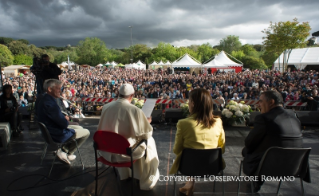
[[[256, 116], [254, 128], [245, 139], [243, 149], [246, 175], [253, 176], [266, 150], [273, 146], [300, 148], [302, 133], [300, 121], [283, 107], [283, 99], [277, 91], [264, 91], [259, 98], [261, 114]], [[258, 192], [263, 182], [255, 183]]]

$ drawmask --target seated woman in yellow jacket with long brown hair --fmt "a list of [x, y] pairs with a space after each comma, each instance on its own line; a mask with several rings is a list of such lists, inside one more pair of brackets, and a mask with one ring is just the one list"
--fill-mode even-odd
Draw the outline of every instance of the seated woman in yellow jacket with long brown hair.
[[[179, 120], [175, 136], [174, 153], [176, 160], [170, 174], [178, 171], [183, 149], [212, 149], [220, 147], [225, 152], [225, 132], [222, 120], [213, 116], [213, 102], [209, 92], [205, 89], [194, 89], [189, 95], [190, 116]], [[225, 162], [224, 168], [225, 168]], [[180, 192], [192, 195], [195, 181], [189, 181]]]

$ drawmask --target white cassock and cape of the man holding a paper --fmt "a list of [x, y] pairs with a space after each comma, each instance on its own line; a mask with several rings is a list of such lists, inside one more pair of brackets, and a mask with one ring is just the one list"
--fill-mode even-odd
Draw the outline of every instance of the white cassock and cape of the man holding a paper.
[[[153, 127], [147, 121], [143, 111], [129, 103], [126, 99], [108, 103], [103, 106], [98, 130], [113, 131], [128, 139], [131, 146], [141, 139], [147, 139], [147, 157], [144, 158], [145, 143], [133, 153], [134, 178], [140, 180], [141, 190], [152, 189], [158, 178], [159, 160], [153, 134]], [[108, 161], [113, 163], [128, 162], [129, 156], [100, 152]], [[118, 168], [120, 179], [131, 177], [130, 168]], [[150, 176], [154, 176], [150, 180]]]

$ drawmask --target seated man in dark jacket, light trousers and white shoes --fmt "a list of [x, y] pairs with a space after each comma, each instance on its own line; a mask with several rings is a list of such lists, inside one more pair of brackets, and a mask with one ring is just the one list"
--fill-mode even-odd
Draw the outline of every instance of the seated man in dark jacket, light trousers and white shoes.
[[[43, 94], [37, 106], [38, 121], [45, 124], [53, 141], [64, 143], [75, 138], [80, 147], [89, 137], [90, 132], [80, 126], [69, 126], [69, 117], [62, 114], [56, 102], [56, 98], [60, 97], [61, 84], [62, 82], [56, 79], [45, 81], [43, 89], [46, 93]], [[76, 143], [71, 141], [57, 151], [57, 156], [70, 164], [70, 161], [76, 158], [73, 154], [75, 151]]]

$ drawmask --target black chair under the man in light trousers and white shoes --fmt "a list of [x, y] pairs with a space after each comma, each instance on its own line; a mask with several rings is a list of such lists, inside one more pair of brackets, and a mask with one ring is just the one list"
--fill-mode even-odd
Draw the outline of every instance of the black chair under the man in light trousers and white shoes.
[[[75, 144], [76, 144], [76, 148], [78, 150], [78, 153], [80, 155], [80, 160], [81, 160], [81, 164], [82, 164], [82, 169], [84, 170], [84, 164], [83, 164], [83, 161], [82, 161], [82, 156], [81, 156], [81, 153], [80, 153], [80, 150], [79, 150], [79, 147], [78, 147], [78, 143], [76, 142], [76, 139], [75, 138], [72, 138], [72, 139], [69, 139], [68, 141], [64, 142], [64, 143], [56, 143], [52, 140], [52, 137], [47, 129], [47, 127], [41, 123], [41, 122], [38, 122], [39, 124], [39, 127], [40, 127], [40, 130], [41, 130], [41, 133], [42, 133], [42, 137], [45, 141], [44, 143], [44, 149], [43, 149], [43, 153], [42, 153], [42, 156], [41, 156], [41, 165], [42, 165], [42, 162], [43, 162], [43, 159], [45, 157], [45, 154], [47, 152], [47, 148], [49, 145], [56, 145], [57, 146], [57, 150], [59, 148], [61, 148], [61, 146], [63, 146], [64, 144], [68, 143], [68, 142], [71, 142], [71, 141], [74, 141]], [[51, 175], [51, 171], [52, 171], [52, 168], [53, 168], [53, 165], [54, 165], [54, 161], [56, 159], [56, 156], [57, 156], [57, 153], [55, 153], [55, 156], [54, 156], [54, 159], [52, 161], [52, 166], [51, 166], [51, 169], [50, 169], [50, 172], [49, 172], [49, 176]]]

